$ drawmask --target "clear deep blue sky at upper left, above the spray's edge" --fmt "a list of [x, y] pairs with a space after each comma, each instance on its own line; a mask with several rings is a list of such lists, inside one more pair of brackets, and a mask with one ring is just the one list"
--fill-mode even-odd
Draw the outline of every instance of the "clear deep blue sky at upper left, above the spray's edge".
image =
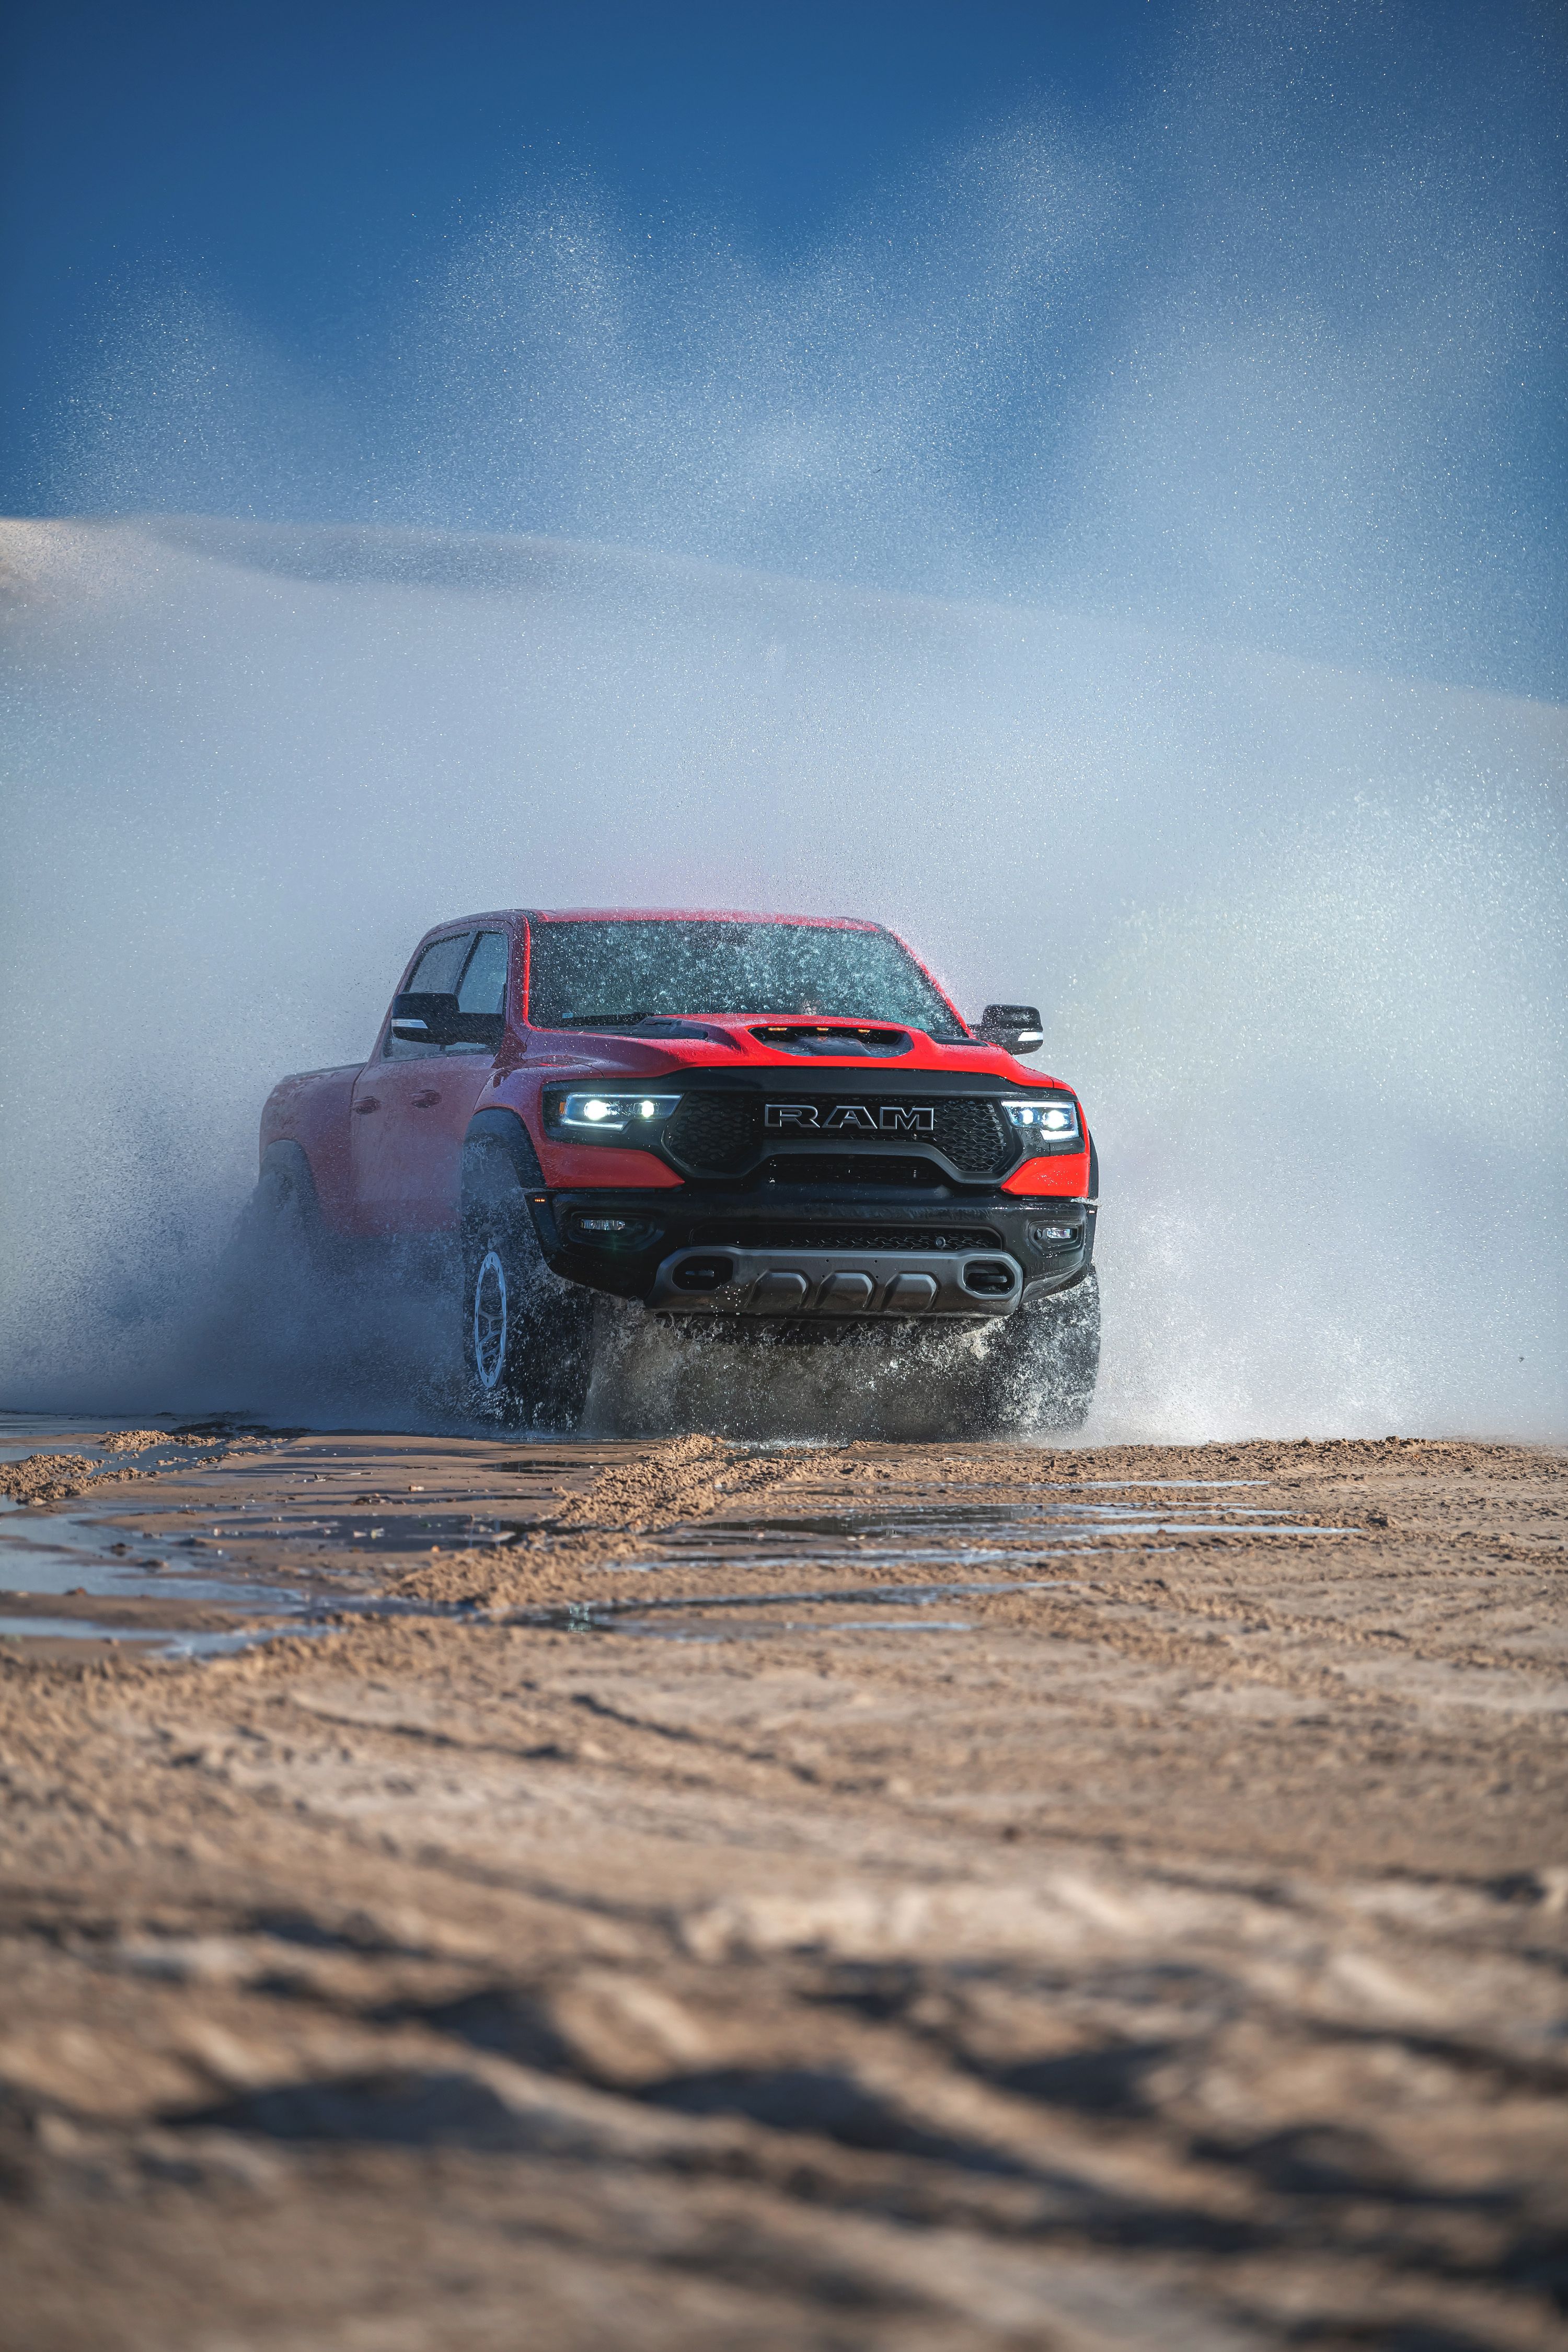
[[520, 183], [762, 254], [1041, 96], [1105, 113], [1168, 0], [14, 0], [0, 508], [101, 306], [193, 278], [334, 350]]

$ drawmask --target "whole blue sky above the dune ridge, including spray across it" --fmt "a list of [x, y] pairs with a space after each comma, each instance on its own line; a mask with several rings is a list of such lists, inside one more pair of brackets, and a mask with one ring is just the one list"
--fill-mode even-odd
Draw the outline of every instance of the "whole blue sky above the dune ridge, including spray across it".
[[1566, 691], [1561, 0], [12, 0], [0, 510]]

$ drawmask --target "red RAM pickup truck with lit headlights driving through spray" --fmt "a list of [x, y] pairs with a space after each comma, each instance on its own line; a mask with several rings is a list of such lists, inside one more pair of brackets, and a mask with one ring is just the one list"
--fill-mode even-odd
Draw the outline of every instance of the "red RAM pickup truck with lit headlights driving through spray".
[[[943, 1428], [1077, 1428], [1095, 1145], [1027, 1004], [969, 1028], [875, 922], [571, 910], [421, 938], [367, 1063], [284, 1077], [261, 1209], [430, 1237], [477, 1402], [571, 1428], [595, 1298], [708, 1338], [929, 1355]], [[461, 1270], [461, 1272], [458, 1272]]]

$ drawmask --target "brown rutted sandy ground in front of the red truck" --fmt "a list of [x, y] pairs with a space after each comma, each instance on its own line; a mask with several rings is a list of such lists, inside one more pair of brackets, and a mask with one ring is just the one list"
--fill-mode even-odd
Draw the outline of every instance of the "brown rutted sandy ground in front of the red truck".
[[317, 1618], [0, 1644], [7, 2352], [1568, 2343], [1561, 1456], [143, 1439], [12, 1623]]

